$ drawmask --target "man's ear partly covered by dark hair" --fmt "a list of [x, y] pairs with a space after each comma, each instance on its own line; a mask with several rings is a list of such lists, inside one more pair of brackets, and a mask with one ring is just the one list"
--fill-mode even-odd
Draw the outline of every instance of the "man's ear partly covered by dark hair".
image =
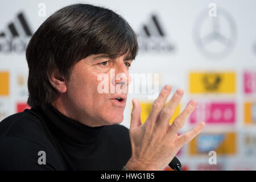
[[55, 68], [51, 73], [48, 74], [48, 80], [57, 91], [60, 93], [67, 92], [67, 83], [63, 76], [60, 75], [59, 69]]

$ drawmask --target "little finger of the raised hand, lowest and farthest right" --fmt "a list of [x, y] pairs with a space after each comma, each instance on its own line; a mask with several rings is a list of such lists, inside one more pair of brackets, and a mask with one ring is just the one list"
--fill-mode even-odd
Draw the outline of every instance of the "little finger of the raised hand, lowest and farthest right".
[[195, 138], [201, 131], [204, 129], [205, 123], [200, 122], [197, 126], [195, 126], [192, 130], [187, 133], [180, 135], [176, 142], [179, 147], [182, 147], [184, 144], [190, 142], [193, 138]]

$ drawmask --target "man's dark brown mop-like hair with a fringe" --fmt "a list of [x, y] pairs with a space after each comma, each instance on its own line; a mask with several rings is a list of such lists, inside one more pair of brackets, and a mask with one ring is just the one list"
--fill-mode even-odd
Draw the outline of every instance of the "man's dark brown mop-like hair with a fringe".
[[58, 68], [69, 80], [73, 66], [93, 54], [135, 59], [138, 43], [125, 19], [105, 7], [87, 4], [66, 6], [49, 16], [28, 43], [28, 101], [44, 108], [56, 100], [57, 90], [48, 74]]

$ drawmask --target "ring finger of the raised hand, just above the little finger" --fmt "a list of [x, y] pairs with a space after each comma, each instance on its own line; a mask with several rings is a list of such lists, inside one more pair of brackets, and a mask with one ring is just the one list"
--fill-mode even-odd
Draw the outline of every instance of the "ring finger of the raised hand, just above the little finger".
[[197, 101], [191, 100], [185, 109], [182, 111], [180, 115], [177, 116], [177, 118], [174, 119], [174, 122], [171, 126], [169, 126], [169, 133], [170, 134], [176, 134], [177, 131], [179, 131], [185, 124], [185, 121], [187, 121], [189, 115], [193, 113], [193, 111], [196, 109]]

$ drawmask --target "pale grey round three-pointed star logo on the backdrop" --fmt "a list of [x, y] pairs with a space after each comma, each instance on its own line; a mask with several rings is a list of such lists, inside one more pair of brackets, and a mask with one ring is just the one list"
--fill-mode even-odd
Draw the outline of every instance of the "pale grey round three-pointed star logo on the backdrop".
[[234, 47], [237, 37], [232, 16], [220, 7], [217, 16], [204, 10], [196, 20], [193, 35], [197, 47], [209, 59], [222, 59]]

